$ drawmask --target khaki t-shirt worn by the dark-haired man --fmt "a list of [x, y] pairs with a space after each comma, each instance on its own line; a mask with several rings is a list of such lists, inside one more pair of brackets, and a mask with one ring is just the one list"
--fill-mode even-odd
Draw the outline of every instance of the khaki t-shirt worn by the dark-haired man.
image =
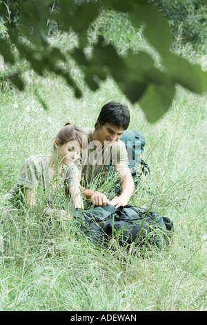
[[88, 186], [96, 178], [104, 182], [108, 175], [108, 165], [124, 164], [128, 166], [126, 146], [120, 140], [112, 146], [103, 146], [97, 150], [96, 141], [92, 140], [92, 128], [83, 128], [88, 136], [88, 150], [84, 150], [75, 164], [82, 172], [81, 185]]

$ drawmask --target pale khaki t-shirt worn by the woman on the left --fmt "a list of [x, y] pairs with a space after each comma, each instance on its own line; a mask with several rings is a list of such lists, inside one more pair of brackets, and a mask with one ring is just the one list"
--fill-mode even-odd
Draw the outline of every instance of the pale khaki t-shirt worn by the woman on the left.
[[50, 183], [48, 173], [48, 161], [46, 155], [32, 155], [23, 162], [19, 178], [10, 189], [5, 198], [14, 204], [18, 200], [23, 201], [23, 188], [33, 188], [39, 190], [39, 195], [48, 191], [48, 200], [61, 188], [79, 186], [78, 168], [75, 164], [63, 166], [63, 170], [55, 186]]

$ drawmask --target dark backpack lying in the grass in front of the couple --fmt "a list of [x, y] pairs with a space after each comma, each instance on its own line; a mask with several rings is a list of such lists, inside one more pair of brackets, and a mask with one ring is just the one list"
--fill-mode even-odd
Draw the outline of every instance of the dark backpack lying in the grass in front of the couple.
[[150, 243], [163, 247], [174, 231], [169, 218], [130, 204], [119, 208], [108, 204], [88, 210], [76, 209], [74, 217], [79, 229], [97, 247], [106, 245], [110, 238], [117, 238], [121, 246]]

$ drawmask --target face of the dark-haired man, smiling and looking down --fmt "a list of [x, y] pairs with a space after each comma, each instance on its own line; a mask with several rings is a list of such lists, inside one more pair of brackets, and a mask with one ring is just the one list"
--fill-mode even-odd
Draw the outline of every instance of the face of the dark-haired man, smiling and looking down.
[[99, 132], [99, 140], [101, 141], [102, 146], [112, 146], [115, 141], [121, 138], [121, 135], [124, 133], [123, 128], [117, 128], [115, 125], [110, 123], [105, 123], [104, 125], [99, 126], [97, 129]]

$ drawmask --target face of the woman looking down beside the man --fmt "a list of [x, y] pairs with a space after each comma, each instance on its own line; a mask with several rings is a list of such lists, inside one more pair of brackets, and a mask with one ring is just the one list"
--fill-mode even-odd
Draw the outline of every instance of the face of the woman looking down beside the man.
[[76, 140], [63, 143], [62, 146], [55, 141], [55, 147], [58, 149], [59, 162], [64, 165], [72, 164], [81, 154], [81, 146]]

